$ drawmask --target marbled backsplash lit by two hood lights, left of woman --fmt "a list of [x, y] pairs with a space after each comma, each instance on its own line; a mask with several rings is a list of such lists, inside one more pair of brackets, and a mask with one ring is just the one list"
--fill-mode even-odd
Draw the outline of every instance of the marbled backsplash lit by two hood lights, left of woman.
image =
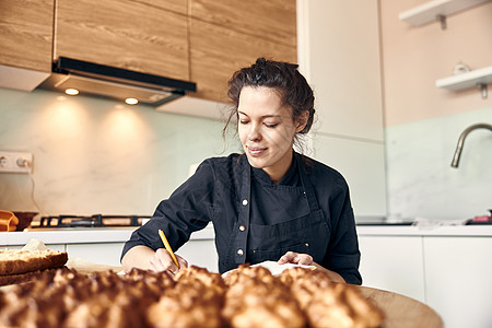
[[223, 122], [148, 106], [0, 89], [0, 150], [33, 153], [32, 178], [0, 174], [0, 209], [151, 214], [190, 165], [237, 150]]

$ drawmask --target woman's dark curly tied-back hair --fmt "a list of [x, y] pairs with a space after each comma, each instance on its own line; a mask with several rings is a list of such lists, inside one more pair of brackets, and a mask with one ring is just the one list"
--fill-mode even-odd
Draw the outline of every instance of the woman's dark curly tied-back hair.
[[[296, 121], [304, 113], [308, 112], [306, 127], [297, 133], [307, 133], [314, 120], [314, 94], [306, 79], [298, 72], [298, 65], [258, 58], [254, 65], [236, 71], [229, 81], [227, 95], [232, 101], [232, 109], [223, 130], [231, 121], [238, 119], [241, 91], [245, 86], [267, 86], [274, 89], [282, 101], [282, 105], [292, 108], [292, 119]], [[237, 125], [236, 125], [237, 129]]]

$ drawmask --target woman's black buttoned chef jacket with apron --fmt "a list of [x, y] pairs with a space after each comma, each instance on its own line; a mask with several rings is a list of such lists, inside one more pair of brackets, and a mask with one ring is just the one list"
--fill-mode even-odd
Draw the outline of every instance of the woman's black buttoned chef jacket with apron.
[[272, 184], [245, 155], [206, 160], [132, 233], [122, 256], [137, 245], [162, 248], [160, 229], [178, 249], [210, 221], [221, 272], [278, 260], [292, 250], [309, 254], [349, 283], [362, 283], [349, 187], [337, 171], [317, 161], [294, 152], [288, 173]]

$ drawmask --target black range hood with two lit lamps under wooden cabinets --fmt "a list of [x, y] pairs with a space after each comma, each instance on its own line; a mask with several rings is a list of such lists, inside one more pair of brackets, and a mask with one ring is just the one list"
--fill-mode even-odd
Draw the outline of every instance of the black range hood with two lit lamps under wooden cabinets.
[[52, 73], [39, 89], [65, 92], [75, 89], [81, 95], [101, 96], [125, 102], [160, 106], [196, 92], [197, 84], [137, 71], [59, 57]]

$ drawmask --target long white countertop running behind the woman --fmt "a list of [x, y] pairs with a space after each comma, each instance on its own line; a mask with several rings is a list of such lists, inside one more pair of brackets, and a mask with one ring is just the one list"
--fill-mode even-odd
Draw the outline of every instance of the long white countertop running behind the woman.
[[[125, 243], [134, 227], [74, 227], [43, 229], [24, 232], [1, 232], [0, 246], [25, 245], [31, 239], [45, 244]], [[441, 236], [441, 237], [492, 237], [492, 225], [358, 225], [359, 236]], [[213, 239], [212, 225], [191, 234], [190, 239]]]

